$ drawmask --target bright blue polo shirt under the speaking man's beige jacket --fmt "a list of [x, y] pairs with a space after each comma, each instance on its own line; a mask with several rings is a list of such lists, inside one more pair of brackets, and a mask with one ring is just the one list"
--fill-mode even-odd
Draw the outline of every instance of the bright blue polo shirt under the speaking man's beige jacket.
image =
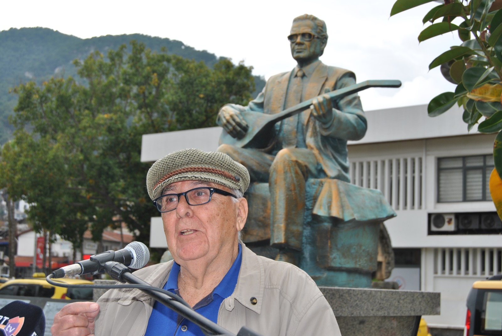
[[[237, 284], [239, 276], [240, 263], [242, 260], [242, 251], [239, 244], [239, 253], [232, 264], [232, 267], [226, 272], [221, 282], [213, 289], [213, 292], [200, 300], [193, 309], [201, 315], [207, 317], [214, 323], [218, 318], [218, 310], [221, 302], [230, 296]], [[169, 273], [164, 289], [178, 294], [178, 274], [180, 265], [173, 263], [173, 268]], [[193, 322], [179, 316], [170, 308], [156, 301], [148, 320], [145, 336], [176, 335], [176, 336], [205, 336], [202, 330]]]

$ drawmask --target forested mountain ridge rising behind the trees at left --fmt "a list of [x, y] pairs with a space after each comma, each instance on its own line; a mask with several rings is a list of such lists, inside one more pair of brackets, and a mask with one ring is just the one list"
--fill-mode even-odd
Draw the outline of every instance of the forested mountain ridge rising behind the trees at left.
[[[17, 95], [9, 89], [29, 80], [40, 82], [51, 76], [76, 76], [72, 61], [83, 59], [91, 52], [105, 53], [131, 40], [143, 42], [153, 51], [166, 47], [168, 52], [214, 65], [218, 58], [206, 50], [195, 50], [181, 41], [142, 34], [106, 35], [81, 39], [48, 28], [11, 28], [0, 32], [0, 145], [11, 138], [13, 127], [8, 116], [13, 113]], [[263, 77], [255, 76], [256, 90], [265, 86]]]

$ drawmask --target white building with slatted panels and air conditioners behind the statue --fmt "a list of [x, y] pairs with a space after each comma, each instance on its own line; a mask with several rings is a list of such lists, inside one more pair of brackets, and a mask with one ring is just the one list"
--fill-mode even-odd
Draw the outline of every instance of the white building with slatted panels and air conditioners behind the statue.
[[[468, 133], [456, 106], [430, 118], [427, 105], [367, 111], [368, 131], [349, 143], [351, 182], [380, 189], [398, 214], [387, 220], [396, 254], [389, 280], [441, 292], [430, 326], [463, 328], [476, 280], [501, 273], [502, 222], [488, 190], [495, 135]], [[143, 136], [142, 162], [183, 148], [215, 150], [218, 127]], [[151, 247], [166, 247], [160, 217]]]

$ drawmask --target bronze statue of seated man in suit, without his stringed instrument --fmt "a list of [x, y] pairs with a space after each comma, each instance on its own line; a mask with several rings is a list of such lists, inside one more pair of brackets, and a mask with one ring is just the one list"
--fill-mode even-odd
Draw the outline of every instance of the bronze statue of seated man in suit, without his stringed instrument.
[[[264, 90], [247, 106], [226, 104], [217, 123], [234, 138], [242, 138], [249, 125], [244, 110], [276, 114], [325, 92], [355, 84], [354, 73], [324, 65], [320, 60], [328, 35], [324, 21], [312, 15], [293, 20], [288, 36], [298, 65], [272, 76]], [[276, 260], [298, 265], [302, 245], [307, 178], [334, 178], [349, 182], [347, 140], [359, 140], [366, 119], [357, 94], [331, 101], [323, 96], [311, 109], [276, 124], [266, 149], [243, 149], [223, 144], [228, 154], [249, 170], [252, 181], [269, 182], [271, 245], [280, 249]], [[253, 200], [250, 199], [250, 202]]]

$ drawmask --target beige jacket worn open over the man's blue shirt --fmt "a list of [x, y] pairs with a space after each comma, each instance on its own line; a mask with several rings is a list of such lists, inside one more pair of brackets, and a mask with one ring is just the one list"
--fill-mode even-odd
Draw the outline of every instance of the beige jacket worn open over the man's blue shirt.
[[[135, 275], [162, 287], [172, 264], [153, 265]], [[252, 298], [258, 302], [252, 304]], [[147, 294], [139, 289], [112, 289], [97, 302], [96, 336], [145, 334], [154, 304]], [[221, 303], [218, 324], [235, 334], [245, 325], [263, 336], [340, 335], [333, 310], [304, 271], [257, 256], [244, 245], [237, 285]]]

